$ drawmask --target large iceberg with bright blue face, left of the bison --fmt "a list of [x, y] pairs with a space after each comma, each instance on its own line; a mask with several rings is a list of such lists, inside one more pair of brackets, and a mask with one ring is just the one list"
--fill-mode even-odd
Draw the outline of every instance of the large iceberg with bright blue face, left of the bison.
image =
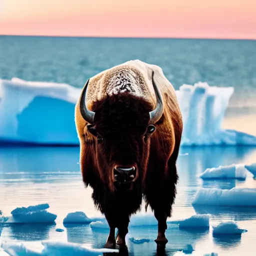
[[81, 89], [18, 78], [0, 80], [0, 86], [0, 140], [78, 144], [74, 105]]

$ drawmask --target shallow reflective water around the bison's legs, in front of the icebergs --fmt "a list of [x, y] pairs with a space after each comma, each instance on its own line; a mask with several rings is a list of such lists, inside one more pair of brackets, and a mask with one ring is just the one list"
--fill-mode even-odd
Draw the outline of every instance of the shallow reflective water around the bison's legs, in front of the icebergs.
[[[178, 255], [187, 244], [193, 246], [192, 255], [211, 251], [218, 255], [254, 255], [256, 237], [256, 208], [196, 207], [191, 206], [198, 187], [232, 188], [256, 187], [256, 180], [204, 181], [198, 175], [207, 167], [251, 162], [256, 159], [255, 147], [182, 147], [177, 167], [179, 182], [171, 220], [197, 213], [210, 213], [210, 224], [235, 220], [240, 228], [248, 230], [241, 237], [214, 238], [205, 230], [179, 230], [169, 224], [166, 251], [156, 249], [153, 239], [157, 227], [131, 227], [127, 236], [129, 255]], [[89, 225], [67, 226], [62, 219], [68, 212], [82, 210], [87, 216], [101, 216], [94, 209], [91, 189], [84, 188], [79, 171], [78, 147], [0, 147], [0, 209], [8, 215], [12, 209], [38, 203], [49, 203], [49, 211], [57, 214], [56, 225], [4, 226], [1, 238], [7, 240], [61, 239], [83, 243], [92, 247], [104, 245], [107, 229], [91, 229]], [[142, 210], [143, 211], [143, 210]], [[150, 242], [134, 244], [129, 238], [147, 238]], [[181, 252], [180, 252], [181, 253]], [[198, 254], [197, 254], [198, 253]]]

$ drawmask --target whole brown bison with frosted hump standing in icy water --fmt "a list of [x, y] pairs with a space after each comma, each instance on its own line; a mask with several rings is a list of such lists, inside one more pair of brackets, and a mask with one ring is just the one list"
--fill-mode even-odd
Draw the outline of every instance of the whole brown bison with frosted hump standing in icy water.
[[105, 247], [125, 247], [129, 217], [142, 199], [158, 222], [155, 242], [165, 245], [182, 117], [162, 69], [130, 60], [89, 78], [75, 105], [75, 126], [84, 185], [109, 225]]

